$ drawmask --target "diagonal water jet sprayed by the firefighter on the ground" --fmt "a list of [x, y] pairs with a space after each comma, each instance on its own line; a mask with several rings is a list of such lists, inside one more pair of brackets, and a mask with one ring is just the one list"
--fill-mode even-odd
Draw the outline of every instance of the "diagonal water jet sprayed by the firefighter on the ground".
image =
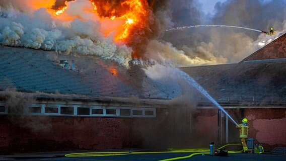
[[201, 94], [203, 94], [209, 101], [211, 101], [213, 104], [215, 104], [220, 110], [222, 110], [236, 125], [238, 125], [234, 119], [227, 113], [227, 111], [215, 100], [213, 99], [190, 75], [187, 73], [178, 70], [178, 73], [180, 74], [181, 77], [183, 77], [189, 85], [195, 87]]

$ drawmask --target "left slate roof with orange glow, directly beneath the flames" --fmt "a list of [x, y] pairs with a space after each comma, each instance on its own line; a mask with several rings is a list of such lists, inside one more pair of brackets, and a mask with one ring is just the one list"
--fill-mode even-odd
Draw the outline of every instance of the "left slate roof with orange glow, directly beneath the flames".
[[[54, 51], [0, 46], [0, 91], [60, 93], [92, 97], [171, 99], [179, 86], [150, 79], [140, 65], [127, 69], [100, 57], [75, 57]], [[76, 70], [63, 69], [59, 60], [75, 60]]]

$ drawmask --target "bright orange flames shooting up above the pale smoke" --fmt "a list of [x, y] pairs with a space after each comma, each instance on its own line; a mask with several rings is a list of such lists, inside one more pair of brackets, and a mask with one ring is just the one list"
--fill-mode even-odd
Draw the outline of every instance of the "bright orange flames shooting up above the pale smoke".
[[[142, 23], [145, 21], [142, 20], [146, 19], [148, 16], [148, 3], [146, 0], [120, 0], [121, 3], [115, 7], [103, 0], [102, 2], [96, 1], [96, 3], [92, 1], [93, 0], [90, 0], [94, 6], [93, 13], [100, 17], [100, 21], [108, 23], [107, 25], [102, 25], [104, 34], [109, 35], [112, 31], [116, 31], [114, 36], [115, 42], [125, 42], [133, 28], [144, 28], [144, 24]], [[102, 6], [96, 6], [99, 5], [99, 3], [101, 3]], [[66, 9], [67, 7], [65, 6], [60, 10], [55, 11], [53, 14], [54, 16], [59, 16], [63, 14]], [[99, 12], [104, 12], [104, 16], [100, 16]], [[106, 13], [108, 13], [108, 16], [106, 16]], [[111, 22], [106, 21], [106, 18]], [[70, 18], [65, 20], [70, 20]], [[121, 23], [122, 21], [124, 23]]]

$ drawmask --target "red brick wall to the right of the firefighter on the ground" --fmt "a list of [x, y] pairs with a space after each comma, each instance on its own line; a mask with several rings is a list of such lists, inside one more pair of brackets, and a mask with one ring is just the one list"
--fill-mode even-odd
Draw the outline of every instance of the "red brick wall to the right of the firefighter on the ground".
[[286, 108], [245, 109], [249, 138], [264, 149], [286, 146]]

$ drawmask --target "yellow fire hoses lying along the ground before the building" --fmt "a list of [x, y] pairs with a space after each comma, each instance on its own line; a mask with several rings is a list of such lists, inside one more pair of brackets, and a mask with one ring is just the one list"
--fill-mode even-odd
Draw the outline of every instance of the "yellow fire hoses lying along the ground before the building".
[[[227, 144], [224, 145], [218, 149], [222, 149], [229, 145], [241, 145], [240, 143], [237, 144]], [[187, 156], [180, 156], [180, 157], [174, 157], [174, 158], [168, 158], [163, 159], [160, 161], [171, 161], [171, 160], [179, 160], [179, 159], [186, 159], [190, 158], [194, 155], [200, 155], [200, 154], [209, 154], [208, 148], [196, 148], [196, 149], [174, 149], [169, 148], [170, 151], [153, 151], [153, 152], [138, 152], [138, 151], [115, 151], [115, 152], [83, 152], [83, 153], [69, 153], [65, 154], [66, 157], [86, 157], [86, 156], [115, 156], [115, 155], [130, 155], [130, 154], [151, 154], [151, 153], [178, 153], [178, 152], [194, 152]], [[228, 151], [228, 153], [239, 153], [241, 151]]]

